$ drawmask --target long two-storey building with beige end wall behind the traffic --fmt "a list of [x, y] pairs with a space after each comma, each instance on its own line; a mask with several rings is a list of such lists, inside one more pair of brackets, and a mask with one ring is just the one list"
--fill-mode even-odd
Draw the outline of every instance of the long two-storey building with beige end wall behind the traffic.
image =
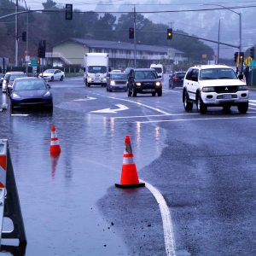
[[47, 62], [56, 64], [84, 66], [84, 54], [88, 52], [104, 52], [109, 55], [109, 66], [125, 69], [134, 67], [136, 52], [137, 67], [149, 67], [151, 63], [164, 60], [184, 61], [183, 52], [167, 46], [130, 44], [123, 42], [69, 38], [55, 45], [52, 52], [46, 53]]

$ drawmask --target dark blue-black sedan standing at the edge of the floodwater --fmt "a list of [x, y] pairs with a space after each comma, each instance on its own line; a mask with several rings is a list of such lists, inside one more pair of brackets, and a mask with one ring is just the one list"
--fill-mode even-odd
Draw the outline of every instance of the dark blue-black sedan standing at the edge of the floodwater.
[[32, 77], [15, 79], [10, 94], [11, 110], [35, 107], [42, 107], [52, 111], [53, 101], [49, 85], [44, 79]]

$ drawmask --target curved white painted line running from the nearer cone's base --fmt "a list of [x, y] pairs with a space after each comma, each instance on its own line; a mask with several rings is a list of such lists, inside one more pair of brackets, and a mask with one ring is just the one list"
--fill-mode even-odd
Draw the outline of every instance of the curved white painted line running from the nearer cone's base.
[[169, 211], [169, 207], [166, 204], [166, 201], [163, 195], [160, 194], [158, 189], [155, 189], [149, 183], [141, 180], [141, 182], [146, 184], [147, 189], [154, 195], [155, 200], [158, 202], [160, 207], [161, 217], [163, 221], [163, 228], [164, 228], [164, 237], [165, 237], [165, 244], [166, 244], [166, 255], [167, 256], [175, 256], [175, 242], [173, 236], [173, 228], [172, 228], [172, 218], [171, 213]]

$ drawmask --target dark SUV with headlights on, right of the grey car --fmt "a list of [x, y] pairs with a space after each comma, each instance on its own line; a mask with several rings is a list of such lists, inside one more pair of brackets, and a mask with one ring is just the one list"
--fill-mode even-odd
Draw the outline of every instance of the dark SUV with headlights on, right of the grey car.
[[153, 68], [134, 68], [128, 75], [128, 96], [136, 97], [137, 93], [151, 93], [162, 96], [162, 84]]

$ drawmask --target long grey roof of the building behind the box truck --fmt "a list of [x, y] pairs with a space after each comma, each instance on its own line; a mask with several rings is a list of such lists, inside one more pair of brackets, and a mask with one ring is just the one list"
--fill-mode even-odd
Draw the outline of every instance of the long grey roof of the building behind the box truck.
[[[90, 48], [104, 48], [104, 49], [134, 49], [134, 44], [125, 42], [114, 42], [114, 41], [104, 41], [104, 40], [93, 40], [93, 39], [82, 39], [82, 38], [69, 38], [67, 41], [72, 41], [78, 44], [83, 44]], [[67, 42], [66, 41], [66, 42]], [[137, 44], [137, 50], [145, 50], [151, 52], [167, 53], [168, 50], [173, 49], [168, 46], [158, 46], [158, 45], [147, 45], [147, 44]], [[173, 49], [176, 53], [183, 54], [183, 51], [178, 49]]]

